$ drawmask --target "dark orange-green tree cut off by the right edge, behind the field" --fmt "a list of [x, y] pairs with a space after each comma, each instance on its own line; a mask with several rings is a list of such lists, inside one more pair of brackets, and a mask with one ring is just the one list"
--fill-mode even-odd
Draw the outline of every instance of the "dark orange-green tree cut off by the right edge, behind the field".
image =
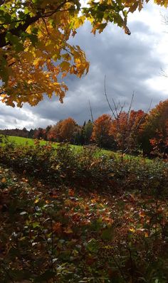
[[145, 154], [168, 154], [168, 100], [159, 102], [147, 116], [140, 139]]

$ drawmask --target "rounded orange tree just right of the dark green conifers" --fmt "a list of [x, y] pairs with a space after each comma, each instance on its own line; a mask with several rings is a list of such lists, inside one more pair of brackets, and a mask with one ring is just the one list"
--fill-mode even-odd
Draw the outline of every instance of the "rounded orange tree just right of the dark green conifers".
[[93, 125], [92, 139], [98, 146], [112, 148], [114, 139], [110, 132], [112, 126], [112, 117], [109, 114], [103, 114], [95, 119]]

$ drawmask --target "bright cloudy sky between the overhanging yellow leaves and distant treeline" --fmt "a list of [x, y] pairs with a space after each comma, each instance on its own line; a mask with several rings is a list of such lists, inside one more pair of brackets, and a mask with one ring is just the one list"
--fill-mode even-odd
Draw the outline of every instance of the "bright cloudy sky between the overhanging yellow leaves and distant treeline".
[[90, 119], [88, 100], [93, 117], [110, 113], [104, 95], [104, 78], [109, 100], [124, 103], [127, 107], [135, 92], [133, 108], [147, 110], [160, 100], [168, 98], [168, 26], [162, 16], [167, 10], [147, 4], [143, 11], [130, 15], [128, 26], [131, 36], [114, 25], [93, 36], [90, 24], [78, 30], [73, 44], [80, 45], [90, 61], [88, 75], [78, 79], [69, 76], [68, 92], [61, 104], [58, 98], [45, 98], [36, 107], [24, 105], [12, 108], [0, 102], [0, 129], [46, 127], [59, 119], [73, 117], [79, 124]]

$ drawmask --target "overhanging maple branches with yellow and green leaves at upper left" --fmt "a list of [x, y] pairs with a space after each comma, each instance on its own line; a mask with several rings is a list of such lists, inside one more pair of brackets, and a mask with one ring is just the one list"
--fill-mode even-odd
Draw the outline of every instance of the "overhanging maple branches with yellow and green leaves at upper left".
[[[92, 32], [102, 32], [112, 22], [130, 34], [127, 16], [146, 1], [0, 0], [0, 96], [6, 105], [36, 105], [58, 95], [63, 102], [68, 87], [63, 78], [88, 73], [89, 63], [70, 36], [85, 20]], [[167, 6], [167, 0], [155, 0]], [[62, 79], [61, 79], [62, 78]]]

